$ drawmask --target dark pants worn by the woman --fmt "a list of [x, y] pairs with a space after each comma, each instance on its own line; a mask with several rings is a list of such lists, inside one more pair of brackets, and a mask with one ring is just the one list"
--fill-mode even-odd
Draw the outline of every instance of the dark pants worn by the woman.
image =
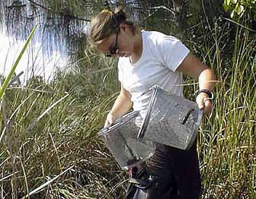
[[190, 150], [158, 144], [154, 156], [139, 168], [140, 179], [155, 177], [147, 188], [130, 185], [127, 199], [197, 199], [200, 197], [200, 170], [197, 142]]

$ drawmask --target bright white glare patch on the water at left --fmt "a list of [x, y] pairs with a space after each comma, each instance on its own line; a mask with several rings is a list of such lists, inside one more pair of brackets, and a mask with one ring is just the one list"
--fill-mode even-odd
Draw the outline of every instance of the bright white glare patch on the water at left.
[[[2, 57], [0, 60], [0, 71], [2, 75], [6, 76], [9, 73], [24, 43], [25, 40], [16, 40], [13, 37], [6, 36], [4, 33], [0, 33], [0, 57]], [[50, 81], [56, 68], [65, 67], [66, 55], [62, 55], [59, 51], [54, 50], [53, 54], [47, 56], [42, 46], [43, 44], [37, 41], [24, 52], [15, 71], [17, 75], [22, 73], [20, 76], [21, 84], [24, 84], [30, 77], [36, 76], [43, 77], [44, 81]]]

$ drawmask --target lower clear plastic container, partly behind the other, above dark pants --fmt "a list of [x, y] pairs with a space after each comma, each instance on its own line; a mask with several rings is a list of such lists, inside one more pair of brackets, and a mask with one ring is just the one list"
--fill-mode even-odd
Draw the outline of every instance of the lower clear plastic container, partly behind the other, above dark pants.
[[117, 119], [114, 125], [98, 132], [122, 169], [130, 169], [155, 153], [152, 141], [137, 140], [139, 125], [136, 124], [136, 117], [139, 117], [139, 112], [127, 113]]

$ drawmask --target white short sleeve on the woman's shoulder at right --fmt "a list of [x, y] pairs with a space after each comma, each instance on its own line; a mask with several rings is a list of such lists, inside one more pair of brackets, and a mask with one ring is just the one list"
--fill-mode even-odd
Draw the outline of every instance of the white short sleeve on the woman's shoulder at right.
[[189, 52], [190, 50], [174, 36], [162, 34], [156, 39], [155, 55], [158, 61], [171, 71], [176, 71]]

